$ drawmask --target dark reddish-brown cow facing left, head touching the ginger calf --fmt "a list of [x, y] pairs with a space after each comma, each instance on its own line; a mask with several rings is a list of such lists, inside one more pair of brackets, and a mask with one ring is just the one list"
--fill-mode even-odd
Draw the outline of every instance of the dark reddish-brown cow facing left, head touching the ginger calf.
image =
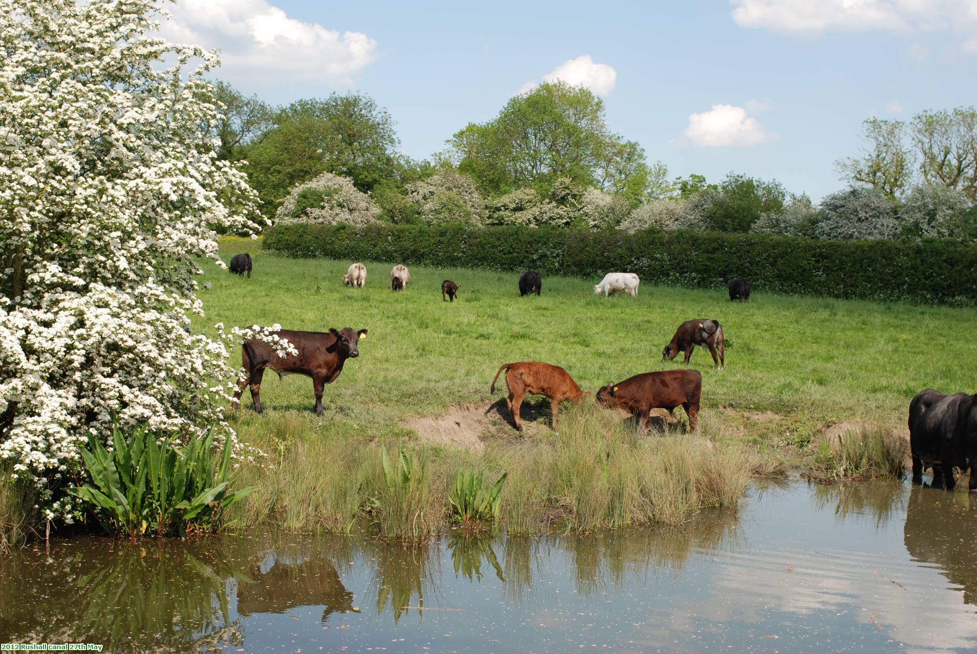
[[695, 431], [701, 396], [700, 371], [644, 372], [603, 386], [597, 391], [597, 402], [623, 409], [648, 427], [652, 426], [653, 409], [673, 412], [675, 407], [682, 407], [689, 416], [689, 430]]

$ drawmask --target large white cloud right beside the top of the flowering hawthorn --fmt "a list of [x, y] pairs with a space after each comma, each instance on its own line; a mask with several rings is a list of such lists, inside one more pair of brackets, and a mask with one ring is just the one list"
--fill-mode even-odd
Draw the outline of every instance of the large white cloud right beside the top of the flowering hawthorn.
[[376, 41], [355, 31], [289, 18], [267, 0], [182, 0], [160, 32], [219, 48], [222, 77], [349, 84], [376, 60]]

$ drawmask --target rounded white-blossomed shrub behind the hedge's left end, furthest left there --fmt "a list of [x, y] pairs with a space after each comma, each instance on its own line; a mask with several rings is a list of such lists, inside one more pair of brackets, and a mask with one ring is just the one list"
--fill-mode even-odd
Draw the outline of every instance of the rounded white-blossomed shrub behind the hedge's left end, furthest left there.
[[281, 200], [276, 223], [314, 223], [318, 225], [366, 225], [380, 215], [370, 196], [362, 193], [348, 177], [322, 173], [299, 184]]

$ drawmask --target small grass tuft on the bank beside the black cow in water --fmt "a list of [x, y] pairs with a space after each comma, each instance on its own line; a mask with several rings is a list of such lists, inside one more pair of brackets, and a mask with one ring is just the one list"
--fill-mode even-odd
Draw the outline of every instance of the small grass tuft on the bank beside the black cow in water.
[[830, 479], [855, 477], [901, 479], [906, 474], [909, 442], [889, 429], [866, 425], [825, 436], [815, 451], [815, 469]]

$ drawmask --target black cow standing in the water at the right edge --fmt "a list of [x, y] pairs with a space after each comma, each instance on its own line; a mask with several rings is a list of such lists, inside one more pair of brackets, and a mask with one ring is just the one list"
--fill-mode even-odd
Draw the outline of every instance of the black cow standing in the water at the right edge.
[[977, 490], [977, 395], [947, 395], [933, 389], [910, 403], [910, 452], [913, 484], [933, 466], [933, 486], [954, 490], [954, 466], [970, 468], [971, 491]]

